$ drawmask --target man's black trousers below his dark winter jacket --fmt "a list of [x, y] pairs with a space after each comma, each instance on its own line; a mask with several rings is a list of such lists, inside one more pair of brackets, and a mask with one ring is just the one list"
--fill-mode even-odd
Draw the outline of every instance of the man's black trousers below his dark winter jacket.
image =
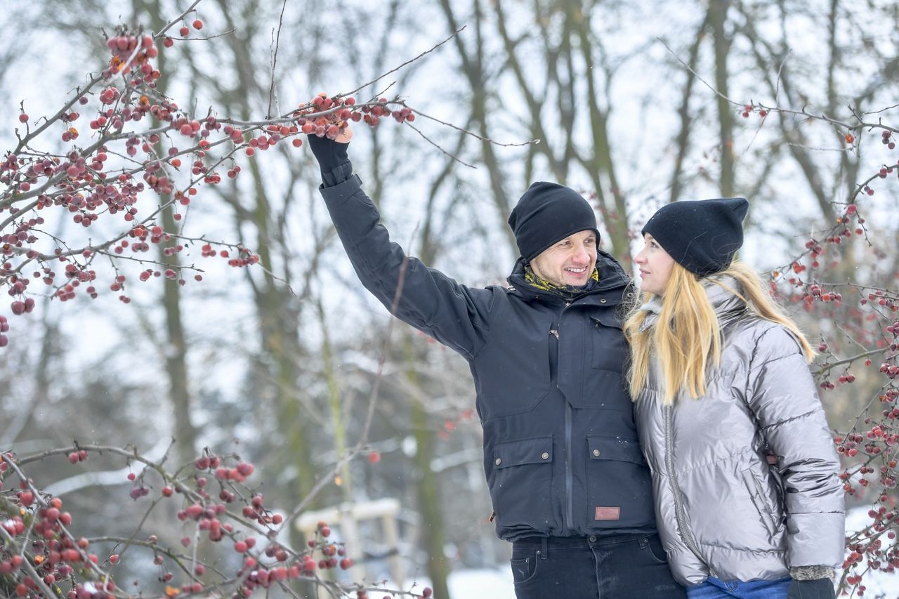
[[518, 599], [683, 599], [657, 534], [512, 543]]

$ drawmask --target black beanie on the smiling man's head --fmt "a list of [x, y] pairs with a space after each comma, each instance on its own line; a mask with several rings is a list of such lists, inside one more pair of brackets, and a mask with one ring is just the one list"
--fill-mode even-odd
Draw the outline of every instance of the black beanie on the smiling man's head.
[[509, 215], [509, 226], [518, 251], [528, 262], [556, 241], [588, 228], [596, 233], [597, 243], [600, 240], [590, 203], [558, 183], [532, 183]]

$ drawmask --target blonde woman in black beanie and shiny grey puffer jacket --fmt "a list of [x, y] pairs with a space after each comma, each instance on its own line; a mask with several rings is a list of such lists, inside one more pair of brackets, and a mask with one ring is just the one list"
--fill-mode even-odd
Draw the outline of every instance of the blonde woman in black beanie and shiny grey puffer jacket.
[[732, 264], [747, 208], [678, 201], [643, 228], [643, 305], [624, 330], [656, 521], [690, 599], [832, 598], [840, 465], [812, 348], [752, 269]]

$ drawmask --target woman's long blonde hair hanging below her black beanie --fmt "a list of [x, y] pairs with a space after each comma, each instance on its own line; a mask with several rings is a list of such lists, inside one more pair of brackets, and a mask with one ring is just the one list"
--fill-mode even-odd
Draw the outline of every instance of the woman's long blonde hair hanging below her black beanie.
[[[731, 289], [719, 281], [719, 277], [731, 277], [737, 289]], [[770, 297], [759, 275], [750, 266], [734, 261], [709, 281], [742, 299], [757, 316], [785, 326], [797, 336], [806, 360], [811, 362], [814, 359], [814, 350], [806, 336]], [[643, 295], [644, 302], [653, 298], [652, 293]], [[631, 397], [636, 400], [644, 389], [653, 355], [661, 367], [665, 404], [673, 403], [681, 389], [694, 399], [701, 397], [706, 391], [708, 363], [712, 362], [717, 368], [721, 362], [721, 327], [702, 280], [681, 264], [674, 263], [662, 296], [662, 311], [658, 320], [641, 330], [646, 315], [647, 312], [636, 304], [630, 309], [623, 326], [630, 344], [628, 380]]]

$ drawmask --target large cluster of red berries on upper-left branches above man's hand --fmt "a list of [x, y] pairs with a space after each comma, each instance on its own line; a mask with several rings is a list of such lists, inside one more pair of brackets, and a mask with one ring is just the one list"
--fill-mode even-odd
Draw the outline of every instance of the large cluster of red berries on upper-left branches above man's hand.
[[[192, 26], [194, 30], [200, 30], [203, 25], [197, 19]], [[189, 33], [190, 29], [184, 25], [182, 37]], [[170, 45], [169, 40], [171, 38], [165, 40], [166, 46]], [[103, 211], [111, 215], [120, 214], [121, 219], [129, 224], [139, 222], [138, 197], [147, 190], [171, 196], [171, 201], [177, 208], [190, 203], [198, 192], [199, 184], [220, 183], [224, 175], [216, 170], [222, 161], [210, 161], [207, 156], [212, 147], [210, 135], [218, 131], [233, 142], [230, 151], [244, 149], [247, 155], [253, 156], [258, 151], [274, 147], [283, 139], [291, 139], [292, 145], [299, 147], [303, 144], [300, 134], [334, 139], [349, 122], [364, 121], [370, 126], [377, 126], [381, 119], [391, 116], [401, 123], [415, 119], [411, 109], [400, 104], [395, 110], [391, 104], [397, 102], [388, 101], [387, 98], [359, 104], [349, 96], [328, 96], [324, 93], [317, 94], [309, 103], [293, 112], [288, 122], [242, 129], [230, 124], [223, 125], [214, 115], [194, 119], [182, 112], [177, 103], [154, 91], [159, 74], [151, 65], [151, 60], [158, 56], [152, 36], [135, 35], [126, 29], [120, 29], [107, 41], [112, 57], [110, 67], [104, 75], [111, 77], [121, 74], [130, 77], [126, 77], [124, 87], [101, 83], [96, 91], [90, 88], [80, 91], [77, 103], [86, 105], [93, 97], [99, 104], [90, 121], [90, 130], [99, 138], [99, 143], [94, 144], [90, 151], [73, 148], [61, 156], [16, 156], [9, 153], [0, 159], [0, 184], [7, 185], [10, 198], [22, 202], [33, 201], [31, 210], [55, 207], [67, 210], [71, 219], [84, 228], [93, 227]], [[149, 115], [161, 121], [165, 131], [155, 130], [146, 135], [141, 135], [139, 131], [122, 133], [127, 123], [140, 121]], [[64, 141], [72, 142], [78, 138], [74, 122], [79, 118], [80, 114], [76, 111], [61, 113], [59, 121], [65, 126], [62, 133]], [[29, 115], [25, 113], [19, 119], [22, 123], [30, 121]], [[159, 148], [165, 139], [173, 139], [171, 136], [166, 137], [169, 132], [189, 139], [191, 147], [179, 149], [172, 145], [167, 149]], [[103, 143], [104, 141], [107, 143]], [[122, 152], [111, 149], [114, 141], [121, 141], [124, 146]], [[141, 153], [145, 156], [142, 160], [139, 157]], [[138, 161], [137, 166], [113, 170], [110, 156], [114, 154], [124, 154]], [[190, 154], [191, 160], [185, 160], [182, 164], [182, 155], [185, 154]], [[182, 171], [185, 166], [189, 167], [190, 174], [195, 178], [185, 189], [179, 190], [176, 189], [174, 171]], [[234, 165], [232, 161], [231, 167], [227, 169], [227, 177], [233, 179], [240, 172], [240, 166]], [[37, 188], [40, 188], [40, 192]], [[147, 253], [153, 244], [165, 242], [164, 254], [174, 255], [182, 252], [185, 247], [182, 243], [170, 243], [174, 236], [168, 233], [148, 237], [145, 232], [150, 226], [138, 225], [109, 246], [85, 246], [81, 251], [66, 255], [58, 247], [55, 253], [39, 252], [34, 248], [40, 241], [38, 225], [44, 219], [26, 212], [20, 214], [21, 209], [17, 207], [16, 201], [0, 202], [3, 205], [0, 211], [8, 210], [13, 217], [8, 220], [9, 228], [14, 230], [0, 236], [0, 255], [7, 260], [0, 270], [0, 284], [9, 285], [15, 298], [13, 315], [27, 313], [34, 307], [34, 300], [24, 297], [28, 292], [29, 278], [19, 273], [28, 261], [36, 260], [40, 263], [41, 268], [34, 271], [34, 278], [42, 279], [47, 285], [55, 287], [53, 297], [66, 301], [76, 299], [80, 286], [84, 294], [93, 299], [98, 297], [97, 287], [91, 284], [96, 280], [97, 273], [88, 264], [95, 254], [123, 255], [126, 250]], [[182, 213], [175, 210], [174, 219], [181, 220]], [[212, 244], [205, 244], [202, 254], [218, 254], [226, 258], [231, 266], [245, 267], [259, 262], [259, 256], [249, 249], [240, 247], [236, 250], [236, 255], [232, 255], [234, 250], [230, 253], [227, 249], [213, 252], [211, 246]], [[66, 280], [63, 282], [58, 282], [59, 278], [53, 267], [57, 259], [64, 264]], [[180, 278], [180, 273], [165, 267], [147, 268], [139, 273], [141, 281], [161, 276], [177, 279], [182, 284], [185, 282]], [[202, 277], [196, 274], [194, 279], [199, 281]], [[121, 292], [123, 288], [124, 281], [119, 281], [118, 277], [110, 285], [111, 291], [119, 293], [120, 301], [128, 303], [130, 299]], [[0, 347], [6, 344], [8, 338], [0, 336]]]

